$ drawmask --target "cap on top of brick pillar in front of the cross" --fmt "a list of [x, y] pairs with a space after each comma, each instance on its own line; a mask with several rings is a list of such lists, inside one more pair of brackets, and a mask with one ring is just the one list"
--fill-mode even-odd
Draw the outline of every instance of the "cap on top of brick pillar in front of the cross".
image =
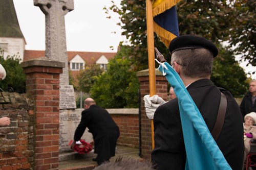
[[46, 57], [41, 57], [33, 60], [28, 60], [20, 63], [23, 68], [31, 66], [45, 66], [45, 67], [55, 67], [55, 68], [64, 68], [65, 62], [55, 61], [48, 59]]

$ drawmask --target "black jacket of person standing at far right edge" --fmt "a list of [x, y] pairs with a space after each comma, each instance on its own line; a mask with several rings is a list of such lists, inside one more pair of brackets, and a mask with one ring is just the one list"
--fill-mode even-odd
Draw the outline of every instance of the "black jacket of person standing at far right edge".
[[243, 118], [247, 113], [256, 112], [256, 101], [254, 102], [254, 105], [252, 105], [251, 97], [251, 93], [247, 92], [240, 104], [240, 110]]

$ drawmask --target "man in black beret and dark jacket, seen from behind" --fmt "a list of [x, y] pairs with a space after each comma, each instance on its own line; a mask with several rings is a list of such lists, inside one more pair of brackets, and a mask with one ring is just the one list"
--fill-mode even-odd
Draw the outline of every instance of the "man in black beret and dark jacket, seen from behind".
[[[191, 98], [197, 105], [211, 132], [217, 120], [221, 92], [227, 98], [224, 123], [216, 140], [218, 147], [232, 169], [243, 168], [243, 121], [238, 104], [231, 93], [216, 87], [210, 81], [217, 47], [199, 36], [184, 35], [169, 44], [170, 64], [179, 74]], [[185, 169], [186, 152], [178, 99], [159, 106], [154, 114], [154, 141], [152, 161], [160, 170]]]

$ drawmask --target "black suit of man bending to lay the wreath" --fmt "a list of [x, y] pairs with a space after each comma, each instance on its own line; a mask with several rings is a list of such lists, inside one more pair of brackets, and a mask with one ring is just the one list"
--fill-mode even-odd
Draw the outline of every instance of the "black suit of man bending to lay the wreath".
[[119, 128], [105, 109], [92, 105], [82, 111], [81, 122], [76, 128], [74, 140], [78, 141], [88, 127], [93, 134], [95, 153], [98, 162], [109, 160], [115, 156], [116, 142], [119, 137]]

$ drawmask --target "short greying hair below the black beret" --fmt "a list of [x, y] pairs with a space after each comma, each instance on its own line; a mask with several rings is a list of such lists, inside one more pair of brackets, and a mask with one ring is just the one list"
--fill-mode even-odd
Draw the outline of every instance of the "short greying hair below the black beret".
[[206, 48], [179, 50], [172, 54], [171, 64], [179, 63], [181, 72], [190, 78], [206, 78], [211, 75], [214, 57]]

